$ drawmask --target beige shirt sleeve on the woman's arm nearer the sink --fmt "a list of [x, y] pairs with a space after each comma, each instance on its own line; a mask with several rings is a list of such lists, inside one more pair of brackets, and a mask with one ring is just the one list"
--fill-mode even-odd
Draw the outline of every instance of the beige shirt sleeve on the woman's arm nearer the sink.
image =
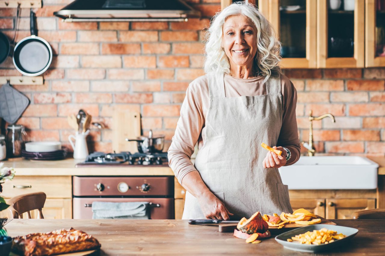
[[297, 91], [291, 81], [283, 76], [281, 78], [283, 95], [283, 118], [277, 145], [286, 147], [291, 152], [291, 157], [286, 165], [292, 165], [300, 159], [301, 145], [298, 139], [298, 127], [296, 119]]

